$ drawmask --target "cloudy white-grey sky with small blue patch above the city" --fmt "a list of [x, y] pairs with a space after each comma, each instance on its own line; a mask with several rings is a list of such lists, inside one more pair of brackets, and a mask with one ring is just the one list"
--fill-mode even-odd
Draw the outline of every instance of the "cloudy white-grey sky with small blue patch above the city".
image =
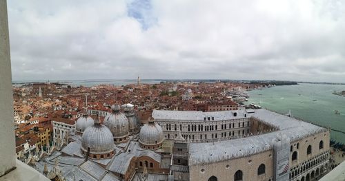
[[19, 80], [345, 83], [345, 1], [8, 1]]

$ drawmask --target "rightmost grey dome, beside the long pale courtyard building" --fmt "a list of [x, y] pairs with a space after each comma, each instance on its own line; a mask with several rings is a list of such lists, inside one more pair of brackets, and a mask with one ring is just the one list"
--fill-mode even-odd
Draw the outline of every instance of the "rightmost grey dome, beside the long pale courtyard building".
[[163, 130], [161, 126], [149, 121], [140, 129], [139, 142], [144, 145], [144, 148], [158, 149], [161, 147], [161, 142], [164, 140]]

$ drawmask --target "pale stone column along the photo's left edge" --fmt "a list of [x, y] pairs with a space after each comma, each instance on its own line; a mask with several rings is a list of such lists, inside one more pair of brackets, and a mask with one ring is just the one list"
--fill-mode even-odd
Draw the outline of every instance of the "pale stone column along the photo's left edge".
[[10, 41], [6, 0], [0, 0], [0, 176], [15, 168]]

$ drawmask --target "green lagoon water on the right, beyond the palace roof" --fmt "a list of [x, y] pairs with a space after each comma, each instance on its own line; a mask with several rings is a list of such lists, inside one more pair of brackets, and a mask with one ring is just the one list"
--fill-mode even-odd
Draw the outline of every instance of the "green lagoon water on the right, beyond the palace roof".
[[[345, 85], [299, 84], [270, 87], [248, 92], [248, 103], [266, 109], [345, 131], [345, 97], [332, 94], [345, 90]], [[338, 110], [340, 114], [335, 114]], [[345, 134], [331, 131], [331, 138], [345, 143]]]

